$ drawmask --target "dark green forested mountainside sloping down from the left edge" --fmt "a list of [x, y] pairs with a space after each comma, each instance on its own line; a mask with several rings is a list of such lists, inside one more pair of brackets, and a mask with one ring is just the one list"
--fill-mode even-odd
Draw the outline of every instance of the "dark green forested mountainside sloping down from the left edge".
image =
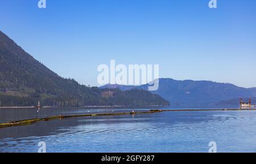
[[168, 106], [146, 90], [100, 89], [65, 79], [0, 31], [0, 106]]

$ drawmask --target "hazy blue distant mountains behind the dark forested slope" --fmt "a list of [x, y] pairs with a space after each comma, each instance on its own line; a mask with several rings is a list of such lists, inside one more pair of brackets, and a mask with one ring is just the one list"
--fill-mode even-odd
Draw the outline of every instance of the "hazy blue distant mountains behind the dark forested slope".
[[[121, 90], [148, 89], [148, 84], [141, 86], [105, 85], [101, 88], [119, 88]], [[256, 97], [256, 88], [242, 88], [228, 83], [213, 81], [193, 81], [159, 79], [159, 89], [152, 93], [162, 96], [173, 107], [238, 107], [240, 98], [247, 100]], [[237, 101], [235, 103], [234, 101]], [[256, 102], [255, 102], [256, 103]]]

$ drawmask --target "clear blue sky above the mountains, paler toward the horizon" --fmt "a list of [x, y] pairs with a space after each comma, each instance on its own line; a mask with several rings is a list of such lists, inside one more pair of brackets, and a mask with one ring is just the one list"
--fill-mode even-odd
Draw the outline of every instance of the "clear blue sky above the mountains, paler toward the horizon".
[[0, 30], [63, 77], [97, 85], [97, 66], [159, 64], [160, 77], [256, 87], [256, 1], [0, 0]]

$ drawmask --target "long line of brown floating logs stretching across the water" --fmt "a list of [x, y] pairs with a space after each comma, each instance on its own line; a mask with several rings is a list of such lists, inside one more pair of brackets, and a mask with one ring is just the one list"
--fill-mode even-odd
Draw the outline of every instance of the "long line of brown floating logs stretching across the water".
[[162, 113], [164, 111], [235, 111], [235, 110], [256, 110], [256, 109], [185, 109], [185, 110], [149, 110], [149, 111], [141, 111], [141, 112], [131, 112], [131, 113], [102, 113], [102, 114], [83, 114], [83, 115], [57, 115], [57, 116], [49, 116], [47, 118], [34, 118], [27, 120], [18, 120], [10, 123], [0, 123], [0, 128], [6, 127], [15, 127], [15, 126], [26, 126], [30, 124], [34, 124], [36, 122], [48, 121], [53, 119], [65, 119], [65, 118], [76, 118], [76, 117], [86, 117], [86, 116], [108, 116], [108, 115], [137, 115], [137, 114], [152, 114], [152, 113]]

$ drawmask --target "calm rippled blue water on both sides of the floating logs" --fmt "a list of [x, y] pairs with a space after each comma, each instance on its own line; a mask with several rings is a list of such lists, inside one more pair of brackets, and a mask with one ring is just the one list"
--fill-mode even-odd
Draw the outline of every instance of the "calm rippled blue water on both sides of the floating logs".
[[[131, 110], [114, 110], [131, 111]], [[109, 113], [88, 109], [0, 109], [0, 122], [58, 114]], [[0, 129], [0, 152], [218, 152], [256, 151], [256, 111], [170, 111], [69, 118]]]

